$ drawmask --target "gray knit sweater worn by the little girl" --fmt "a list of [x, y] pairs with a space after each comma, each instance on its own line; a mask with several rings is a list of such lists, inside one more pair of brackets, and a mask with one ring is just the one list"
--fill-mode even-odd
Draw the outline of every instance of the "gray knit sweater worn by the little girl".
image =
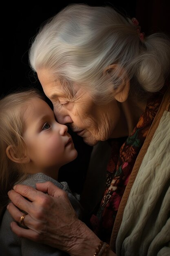
[[[35, 188], [36, 183], [51, 181], [53, 184], [63, 189], [68, 193], [68, 198], [75, 209], [77, 216], [81, 218], [82, 207], [79, 204], [79, 195], [71, 193], [66, 182], [57, 182], [51, 177], [46, 176], [43, 173], [36, 173], [29, 175], [22, 184], [26, 184]], [[13, 218], [6, 210], [0, 223], [0, 256], [66, 256], [65, 252], [62, 252], [56, 248], [48, 245], [35, 243], [26, 238], [18, 238], [10, 229], [10, 223]]]

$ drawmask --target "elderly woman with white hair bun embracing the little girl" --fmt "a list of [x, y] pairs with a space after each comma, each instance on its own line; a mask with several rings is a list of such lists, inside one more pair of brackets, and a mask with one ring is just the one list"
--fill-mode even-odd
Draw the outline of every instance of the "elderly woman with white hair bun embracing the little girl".
[[[94, 146], [83, 199], [100, 191], [85, 224], [50, 182], [17, 185], [7, 208], [17, 222], [26, 211], [29, 229], [12, 222], [13, 232], [71, 256], [170, 255], [168, 38], [145, 36], [111, 7], [71, 4], [40, 29], [29, 57], [57, 120]], [[103, 144], [111, 150], [97, 151]], [[97, 157], [110, 157], [103, 174]]]

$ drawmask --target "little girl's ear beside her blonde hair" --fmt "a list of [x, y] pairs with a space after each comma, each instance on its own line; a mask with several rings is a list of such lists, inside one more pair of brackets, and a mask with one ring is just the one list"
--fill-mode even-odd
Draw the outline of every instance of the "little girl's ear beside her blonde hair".
[[22, 156], [18, 156], [16, 146], [13, 146], [13, 145], [7, 146], [6, 154], [7, 154], [7, 157], [12, 162], [15, 162], [18, 164], [28, 164], [30, 161], [29, 157], [26, 155], [25, 152], [23, 152]]

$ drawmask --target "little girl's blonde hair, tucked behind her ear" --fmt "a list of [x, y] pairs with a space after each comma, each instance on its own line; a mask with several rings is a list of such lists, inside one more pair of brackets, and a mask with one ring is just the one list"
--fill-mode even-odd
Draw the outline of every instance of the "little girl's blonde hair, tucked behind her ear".
[[44, 99], [36, 89], [14, 92], [0, 99], [0, 214], [9, 200], [7, 192], [15, 182], [26, 177], [24, 165], [12, 162], [7, 157], [6, 149], [12, 145], [16, 155], [22, 155], [26, 146], [22, 137], [24, 111], [28, 101], [34, 97]]

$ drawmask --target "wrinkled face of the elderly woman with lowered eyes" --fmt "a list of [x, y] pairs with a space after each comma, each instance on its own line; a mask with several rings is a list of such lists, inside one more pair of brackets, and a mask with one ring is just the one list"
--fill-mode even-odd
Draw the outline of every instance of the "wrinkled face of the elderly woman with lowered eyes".
[[86, 144], [93, 146], [122, 132], [124, 119], [116, 100], [106, 105], [96, 105], [90, 92], [75, 84], [71, 92], [59, 80], [51, 77], [47, 70], [38, 71], [38, 78], [44, 93], [53, 103], [57, 121], [69, 125], [73, 132], [83, 137]]

